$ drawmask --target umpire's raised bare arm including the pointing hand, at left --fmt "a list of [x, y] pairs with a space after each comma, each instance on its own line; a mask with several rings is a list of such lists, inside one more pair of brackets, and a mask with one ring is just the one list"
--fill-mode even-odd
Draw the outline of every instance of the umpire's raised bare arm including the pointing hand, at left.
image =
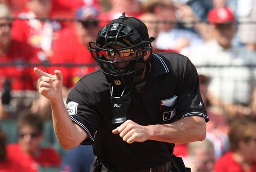
[[80, 126], [72, 122], [62, 99], [62, 75], [55, 70], [55, 75], [34, 68], [39, 76], [39, 93], [50, 100], [52, 107], [53, 127], [60, 145], [65, 149], [76, 147], [88, 134]]

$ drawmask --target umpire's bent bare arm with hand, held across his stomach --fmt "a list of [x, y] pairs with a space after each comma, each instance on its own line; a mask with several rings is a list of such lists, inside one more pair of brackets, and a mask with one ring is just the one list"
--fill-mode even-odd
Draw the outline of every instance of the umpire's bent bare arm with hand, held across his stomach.
[[156, 140], [168, 143], [187, 143], [204, 140], [206, 123], [203, 117], [192, 116], [182, 118], [170, 124], [142, 126], [131, 120], [112, 131], [119, 134], [127, 143]]

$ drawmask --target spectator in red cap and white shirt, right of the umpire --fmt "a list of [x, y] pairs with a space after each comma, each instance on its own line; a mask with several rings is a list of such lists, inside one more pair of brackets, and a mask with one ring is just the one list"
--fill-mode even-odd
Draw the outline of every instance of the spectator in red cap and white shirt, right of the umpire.
[[[215, 8], [208, 13], [208, 30], [212, 39], [195, 47], [189, 58], [198, 73], [211, 78], [207, 95], [212, 107], [227, 118], [254, 115], [251, 104], [256, 89], [256, 53], [245, 46], [233, 44], [236, 18], [227, 7]], [[210, 52], [210, 53], [209, 53]], [[212, 67], [216, 66], [216, 67]]]

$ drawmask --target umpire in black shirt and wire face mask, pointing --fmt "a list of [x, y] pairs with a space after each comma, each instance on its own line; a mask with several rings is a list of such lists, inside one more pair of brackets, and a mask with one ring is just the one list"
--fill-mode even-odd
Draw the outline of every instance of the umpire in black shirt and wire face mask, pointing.
[[124, 13], [104, 26], [89, 46], [100, 69], [77, 82], [67, 110], [61, 72], [34, 68], [59, 143], [93, 144], [93, 171], [190, 171], [173, 155], [174, 143], [206, 137], [194, 65], [180, 54], [153, 54], [153, 40], [141, 20]]

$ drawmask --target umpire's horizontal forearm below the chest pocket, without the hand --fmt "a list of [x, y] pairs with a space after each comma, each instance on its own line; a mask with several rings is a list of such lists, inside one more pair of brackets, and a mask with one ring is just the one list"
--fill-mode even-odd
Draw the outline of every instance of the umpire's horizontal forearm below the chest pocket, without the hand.
[[204, 118], [185, 117], [174, 123], [148, 125], [148, 140], [169, 143], [187, 143], [204, 140], [206, 137], [206, 123]]

